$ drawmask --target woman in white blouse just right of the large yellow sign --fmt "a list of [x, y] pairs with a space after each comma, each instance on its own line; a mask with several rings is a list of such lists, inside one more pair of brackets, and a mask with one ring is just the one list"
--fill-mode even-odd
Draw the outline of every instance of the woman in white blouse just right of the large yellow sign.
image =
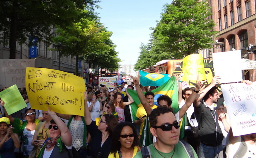
[[99, 117], [99, 111], [102, 110], [100, 109], [100, 103], [99, 101], [96, 100], [96, 95], [95, 93], [89, 93], [88, 94], [88, 107], [89, 107], [89, 111], [91, 113], [91, 118], [93, 121], [95, 121], [95, 118]]

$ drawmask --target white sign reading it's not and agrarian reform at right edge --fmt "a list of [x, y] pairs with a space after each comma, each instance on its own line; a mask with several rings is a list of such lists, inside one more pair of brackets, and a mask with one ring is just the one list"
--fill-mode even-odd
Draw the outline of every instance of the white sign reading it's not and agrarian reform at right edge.
[[256, 82], [221, 85], [234, 136], [256, 131]]

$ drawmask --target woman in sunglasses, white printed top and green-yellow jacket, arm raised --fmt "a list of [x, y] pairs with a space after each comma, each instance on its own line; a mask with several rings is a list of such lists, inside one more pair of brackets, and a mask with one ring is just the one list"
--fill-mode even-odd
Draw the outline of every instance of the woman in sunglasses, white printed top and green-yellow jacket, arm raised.
[[34, 137], [36, 125], [39, 124], [39, 120], [36, 119], [36, 112], [35, 109], [27, 109], [25, 111], [25, 118], [26, 120], [22, 120], [19, 118], [13, 118], [12, 115], [8, 115], [6, 109], [4, 108], [6, 117], [9, 118], [12, 126], [14, 127], [13, 132], [16, 133], [18, 136], [22, 135], [23, 138], [23, 157], [27, 158], [30, 155], [33, 147], [31, 142]]

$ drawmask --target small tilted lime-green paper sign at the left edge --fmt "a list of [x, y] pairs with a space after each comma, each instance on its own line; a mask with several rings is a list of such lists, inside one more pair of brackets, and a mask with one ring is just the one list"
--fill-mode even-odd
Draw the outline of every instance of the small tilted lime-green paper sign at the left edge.
[[5, 102], [5, 109], [8, 115], [27, 107], [17, 85], [8, 87], [0, 92], [1, 99]]

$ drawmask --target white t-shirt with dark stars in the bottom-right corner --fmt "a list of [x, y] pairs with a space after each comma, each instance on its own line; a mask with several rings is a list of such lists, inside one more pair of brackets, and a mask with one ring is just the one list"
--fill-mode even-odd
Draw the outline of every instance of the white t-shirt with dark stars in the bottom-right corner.
[[[226, 155], [227, 155], [227, 158], [233, 158], [233, 156], [235, 155], [236, 151], [238, 150], [238, 148], [240, 146], [241, 137], [239, 137], [237, 142], [232, 145], [228, 136], [229, 136], [229, 134], [226, 137]], [[256, 143], [254, 142], [254, 145], [249, 144], [247, 142], [245, 142], [245, 143], [247, 146], [247, 152], [245, 153], [243, 158], [255, 158], [256, 157]]]

